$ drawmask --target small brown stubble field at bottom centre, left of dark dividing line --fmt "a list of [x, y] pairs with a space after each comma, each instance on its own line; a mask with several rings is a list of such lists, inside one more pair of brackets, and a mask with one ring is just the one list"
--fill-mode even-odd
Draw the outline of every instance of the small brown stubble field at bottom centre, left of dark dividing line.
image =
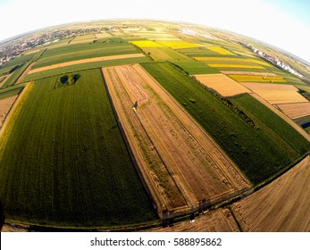
[[182, 221], [155, 232], [238, 232], [239, 228], [227, 208], [219, 208], [213, 212], [206, 212], [195, 218], [195, 221]]

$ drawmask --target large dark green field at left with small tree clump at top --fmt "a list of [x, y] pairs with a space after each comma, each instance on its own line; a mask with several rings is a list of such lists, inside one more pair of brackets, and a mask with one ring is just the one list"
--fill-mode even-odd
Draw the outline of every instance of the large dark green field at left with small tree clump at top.
[[54, 88], [59, 77], [35, 82], [1, 145], [5, 219], [69, 228], [155, 221], [101, 71], [75, 73], [68, 87]]

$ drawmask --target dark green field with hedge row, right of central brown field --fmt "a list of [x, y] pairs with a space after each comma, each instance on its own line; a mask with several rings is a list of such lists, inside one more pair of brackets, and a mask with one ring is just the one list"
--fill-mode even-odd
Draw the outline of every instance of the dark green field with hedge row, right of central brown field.
[[[168, 63], [142, 65], [222, 146], [254, 185], [272, 178], [309, 152], [310, 144], [304, 137], [251, 96], [231, 103]], [[260, 115], [264, 117], [260, 119]]]

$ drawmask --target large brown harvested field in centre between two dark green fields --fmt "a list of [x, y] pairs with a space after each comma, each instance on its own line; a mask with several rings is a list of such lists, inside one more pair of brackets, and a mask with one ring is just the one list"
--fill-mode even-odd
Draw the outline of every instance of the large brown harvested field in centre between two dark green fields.
[[193, 208], [249, 187], [230, 159], [141, 66], [108, 67], [103, 72], [121, 127], [157, 207]]

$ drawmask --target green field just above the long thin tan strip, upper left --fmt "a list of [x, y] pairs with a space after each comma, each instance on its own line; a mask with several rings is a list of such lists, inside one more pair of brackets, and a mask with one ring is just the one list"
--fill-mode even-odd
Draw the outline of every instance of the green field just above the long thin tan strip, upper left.
[[137, 49], [122, 39], [119, 41], [111, 41], [108, 39], [105, 40], [105, 42], [98, 41], [90, 45], [88, 43], [72, 44], [47, 49], [46, 53], [43, 54], [43, 56], [34, 65], [33, 69], [56, 63], [65, 63], [92, 57], [135, 53], [138, 53]]

